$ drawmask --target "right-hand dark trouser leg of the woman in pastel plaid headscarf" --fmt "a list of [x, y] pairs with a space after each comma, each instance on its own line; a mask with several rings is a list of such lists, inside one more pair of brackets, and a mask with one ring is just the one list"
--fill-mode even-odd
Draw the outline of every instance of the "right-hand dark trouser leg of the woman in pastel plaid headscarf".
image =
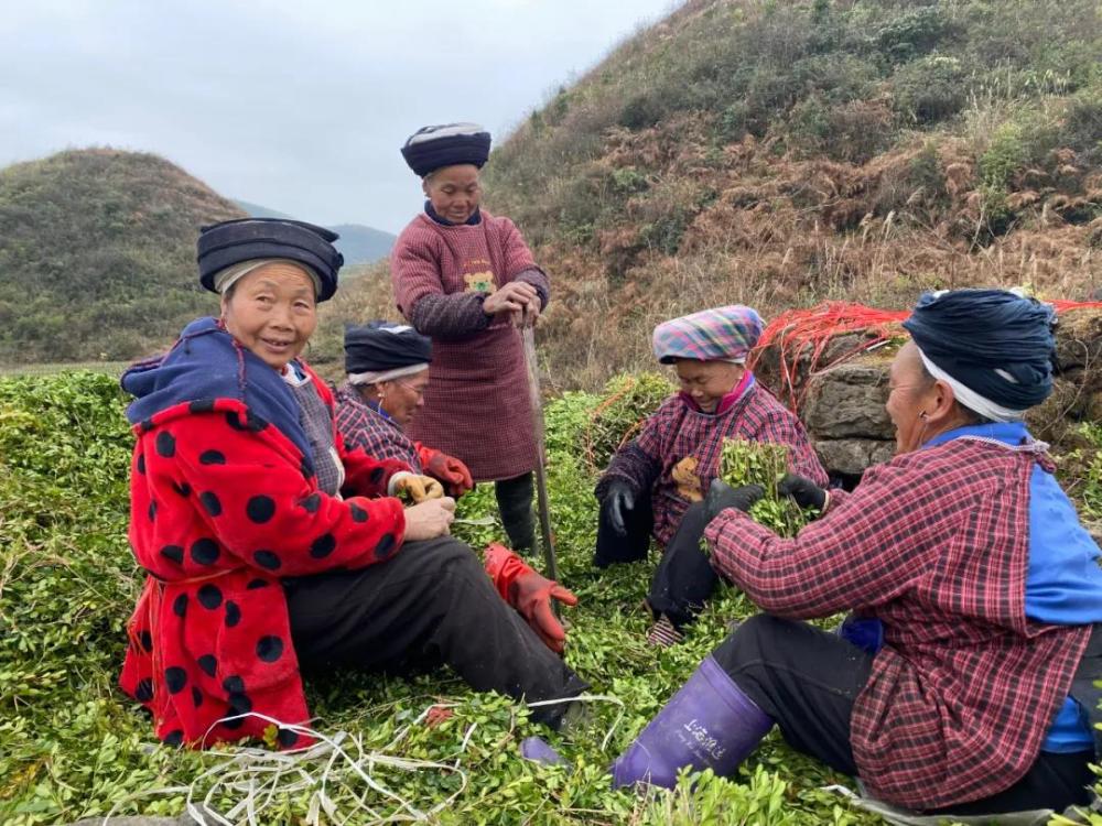
[[678, 630], [692, 622], [720, 584], [720, 575], [700, 546], [705, 528], [704, 503], [690, 504], [650, 582], [647, 602], [656, 616], [665, 613]]

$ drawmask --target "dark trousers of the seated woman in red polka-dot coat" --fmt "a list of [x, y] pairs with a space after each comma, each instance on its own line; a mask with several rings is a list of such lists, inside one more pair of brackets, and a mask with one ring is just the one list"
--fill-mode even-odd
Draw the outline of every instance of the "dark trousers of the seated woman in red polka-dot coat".
[[[466, 545], [407, 543], [387, 562], [284, 582], [304, 671], [334, 665], [406, 672], [450, 665], [476, 691], [529, 702], [586, 688], [503, 601]], [[559, 725], [565, 703], [532, 709]]]

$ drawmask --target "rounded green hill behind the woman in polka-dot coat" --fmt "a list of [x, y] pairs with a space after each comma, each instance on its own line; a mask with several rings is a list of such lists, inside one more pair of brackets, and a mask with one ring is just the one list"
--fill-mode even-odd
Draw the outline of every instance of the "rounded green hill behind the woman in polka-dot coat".
[[0, 170], [0, 363], [127, 359], [217, 305], [203, 224], [244, 213], [162, 157], [62, 152]]

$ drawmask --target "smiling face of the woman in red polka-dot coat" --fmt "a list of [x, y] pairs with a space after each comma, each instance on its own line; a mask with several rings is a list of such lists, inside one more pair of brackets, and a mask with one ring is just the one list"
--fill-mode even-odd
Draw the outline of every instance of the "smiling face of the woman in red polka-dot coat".
[[264, 264], [223, 296], [222, 319], [242, 346], [282, 372], [317, 326], [314, 282], [301, 267]]

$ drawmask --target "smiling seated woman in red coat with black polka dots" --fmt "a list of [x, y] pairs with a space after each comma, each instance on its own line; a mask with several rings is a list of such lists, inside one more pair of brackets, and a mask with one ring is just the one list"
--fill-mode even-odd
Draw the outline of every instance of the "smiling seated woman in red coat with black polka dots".
[[[495, 591], [518, 588], [447, 535], [455, 503], [439, 482], [345, 447], [329, 389], [298, 358], [336, 291], [335, 239], [298, 221], [205, 228], [201, 282], [222, 317], [122, 377], [136, 396], [129, 537], [149, 577], [120, 684], [168, 743], [261, 737], [258, 715], [305, 724], [300, 667], [446, 663], [529, 700], [585, 687]], [[403, 509], [403, 489], [419, 503]], [[519, 596], [547, 601], [539, 580]], [[534, 717], [555, 726], [565, 705]]]

